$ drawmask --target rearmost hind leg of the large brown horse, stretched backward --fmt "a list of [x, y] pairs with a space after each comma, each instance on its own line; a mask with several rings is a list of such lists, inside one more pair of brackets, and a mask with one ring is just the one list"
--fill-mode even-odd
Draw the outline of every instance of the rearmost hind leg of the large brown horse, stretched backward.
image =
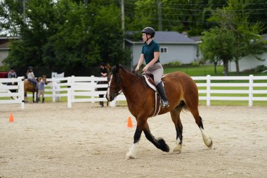
[[202, 139], [204, 141], [204, 144], [207, 147], [211, 148], [212, 139], [209, 136], [209, 134], [207, 134], [207, 132], [204, 130], [203, 123], [202, 123], [202, 118], [200, 117], [200, 114], [198, 112], [197, 106], [194, 106], [191, 103], [186, 103], [186, 105], [188, 106], [188, 109], [192, 113], [193, 117], [195, 118], [195, 122], [197, 123], [197, 126], [200, 127], [200, 132], [202, 134]]

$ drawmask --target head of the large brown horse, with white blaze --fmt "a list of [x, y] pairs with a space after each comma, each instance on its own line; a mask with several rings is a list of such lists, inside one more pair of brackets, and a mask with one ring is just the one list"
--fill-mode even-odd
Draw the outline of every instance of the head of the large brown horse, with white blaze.
[[121, 84], [122, 84], [122, 76], [121, 71], [124, 70], [122, 65], [116, 65], [113, 67], [108, 75], [108, 91], [105, 95], [105, 98], [108, 101], [113, 101], [116, 96], [120, 94]]

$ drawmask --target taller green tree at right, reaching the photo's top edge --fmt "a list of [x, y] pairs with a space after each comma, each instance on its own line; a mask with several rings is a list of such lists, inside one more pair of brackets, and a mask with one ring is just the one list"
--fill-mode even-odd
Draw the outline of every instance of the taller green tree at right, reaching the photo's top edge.
[[[245, 11], [245, 1], [229, 0], [228, 6], [217, 9], [209, 20], [219, 23], [220, 27], [230, 30], [234, 41], [234, 61], [236, 71], [239, 70], [239, 61], [249, 54], [256, 55], [266, 51], [266, 45], [262, 37], [258, 34], [263, 31], [263, 25], [259, 23], [249, 23], [249, 15]], [[260, 45], [261, 44], [261, 45]], [[256, 45], [258, 48], [255, 48]], [[251, 51], [250, 49], [254, 49]]]

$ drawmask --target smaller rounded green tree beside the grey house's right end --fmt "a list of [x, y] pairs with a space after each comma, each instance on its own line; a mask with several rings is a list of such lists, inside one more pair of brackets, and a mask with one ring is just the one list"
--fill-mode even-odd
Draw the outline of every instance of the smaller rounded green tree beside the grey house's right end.
[[223, 61], [224, 75], [228, 75], [228, 63], [234, 55], [234, 37], [233, 34], [220, 27], [212, 27], [210, 30], [203, 32], [202, 44], [200, 50], [202, 51], [204, 61], [211, 61], [214, 63], [214, 70], [216, 71], [216, 64]]

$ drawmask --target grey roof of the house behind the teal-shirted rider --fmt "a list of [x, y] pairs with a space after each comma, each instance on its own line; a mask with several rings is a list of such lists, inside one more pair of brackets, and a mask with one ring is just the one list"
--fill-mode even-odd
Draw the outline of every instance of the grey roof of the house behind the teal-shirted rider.
[[[157, 31], [154, 40], [161, 44], [197, 44], [193, 39], [178, 32]], [[130, 39], [126, 39], [126, 41], [131, 44], [143, 44], [143, 41], [132, 42]]]

